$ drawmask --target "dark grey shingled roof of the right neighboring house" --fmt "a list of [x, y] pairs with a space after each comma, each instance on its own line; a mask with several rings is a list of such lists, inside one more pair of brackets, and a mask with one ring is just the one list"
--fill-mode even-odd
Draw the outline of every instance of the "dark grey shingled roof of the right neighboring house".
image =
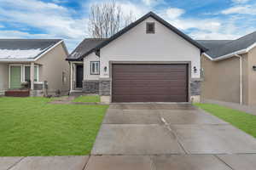
[[256, 42], [256, 31], [236, 40], [197, 40], [209, 50], [206, 52], [212, 59], [249, 48]]

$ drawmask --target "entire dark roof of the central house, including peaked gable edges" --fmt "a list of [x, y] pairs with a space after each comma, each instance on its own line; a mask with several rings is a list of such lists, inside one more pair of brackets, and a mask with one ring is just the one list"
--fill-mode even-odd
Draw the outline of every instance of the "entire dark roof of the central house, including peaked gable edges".
[[[85, 44], [84, 46], [90, 47], [90, 48], [86, 48], [87, 52], [84, 53], [84, 54], [80, 54], [79, 57], [74, 57], [74, 56], [72, 57], [70, 55], [67, 58], [67, 60], [82, 60], [86, 55], [88, 55], [88, 54], [90, 54], [92, 52], [96, 52], [97, 50], [105, 47], [106, 45], [108, 45], [109, 42], [112, 42], [116, 38], [122, 36], [123, 34], [125, 34], [125, 32], [131, 30], [131, 28], [133, 28], [133, 27], [137, 26], [138, 24], [140, 24], [141, 22], [143, 22], [143, 20], [148, 19], [148, 17], [152, 17], [152, 18], [154, 18], [154, 20], [159, 21], [162, 25], [166, 26], [171, 31], [174, 31], [175, 33], [177, 33], [177, 35], [179, 35], [180, 37], [183, 37], [185, 40], [187, 40], [188, 42], [190, 42], [193, 45], [195, 45], [195, 47], [200, 48], [202, 52], [207, 51], [207, 48], [203, 47], [201, 45], [201, 43], [196, 42], [191, 37], [189, 37], [186, 34], [184, 34], [182, 31], [179, 31], [176, 27], [174, 27], [171, 24], [169, 24], [168, 22], [166, 22], [166, 20], [161, 19], [160, 16], [158, 16], [157, 14], [154, 14], [153, 12], [149, 12], [148, 14], [145, 14], [143, 17], [141, 17], [139, 20], [136, 20], [135, 22], [131, 23], [129, 26], [126, 26], [125, 28], [123, 28], [122, 30], [118, 31], [116, 34], [114, 34], [112, 37], [109, 37], [108, 39], [100, 39], [100, 41], [97, 41], [95, 38], [92, 39], [94, 41], [86, 41], [86, 39], [84, 39], [85, 40], [84, 43], [88, 42], [87, 45]], [[99, 43], [96, 44], [97, 42], [99, 42]], [[81, 42], [81, 43], [83, 43], [83, 42]], [[76, 49], [74, 50], [73, 55], [76, 55], [76, 54], [74, 54], [75, 51], [76, 51]]]

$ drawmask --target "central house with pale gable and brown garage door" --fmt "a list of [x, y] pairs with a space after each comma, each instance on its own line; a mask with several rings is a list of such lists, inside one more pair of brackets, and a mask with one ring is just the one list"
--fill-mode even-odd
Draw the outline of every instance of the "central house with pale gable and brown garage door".
[[67, 57], [71, 92], [106, 102], [189, 102], [201, 95], [200, 43], [149, 12], [108, 39], [86, 38]]

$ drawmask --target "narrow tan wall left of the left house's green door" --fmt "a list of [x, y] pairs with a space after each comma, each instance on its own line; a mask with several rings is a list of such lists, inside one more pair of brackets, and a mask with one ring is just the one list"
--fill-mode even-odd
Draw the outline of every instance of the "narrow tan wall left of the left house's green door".
[[9, 88], [9, 66], [6, 63], [0, 63], [0, 94], [7, 88]]

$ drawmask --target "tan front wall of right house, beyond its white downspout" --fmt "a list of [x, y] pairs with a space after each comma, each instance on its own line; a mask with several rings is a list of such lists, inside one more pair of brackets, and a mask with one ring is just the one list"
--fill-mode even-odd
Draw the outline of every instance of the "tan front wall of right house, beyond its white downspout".
[[253, 71], [253, 65], [256, 65], [256, 48], [248, 53], [248, 104], [256, 105], [256, 71]]

